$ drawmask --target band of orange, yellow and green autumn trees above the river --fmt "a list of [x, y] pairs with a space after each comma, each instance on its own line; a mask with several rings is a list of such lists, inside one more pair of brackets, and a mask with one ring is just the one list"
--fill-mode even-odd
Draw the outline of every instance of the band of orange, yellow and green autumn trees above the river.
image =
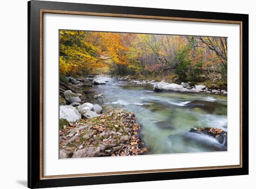
[[60, 73], [227, 80], [227, 38], [60, 31]]

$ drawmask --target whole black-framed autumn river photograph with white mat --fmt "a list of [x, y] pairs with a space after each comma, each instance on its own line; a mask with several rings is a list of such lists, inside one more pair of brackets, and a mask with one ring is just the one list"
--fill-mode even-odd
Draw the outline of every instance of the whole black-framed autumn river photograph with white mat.
[[249, 16], [28, 2], [28, 187], [249, 174]]

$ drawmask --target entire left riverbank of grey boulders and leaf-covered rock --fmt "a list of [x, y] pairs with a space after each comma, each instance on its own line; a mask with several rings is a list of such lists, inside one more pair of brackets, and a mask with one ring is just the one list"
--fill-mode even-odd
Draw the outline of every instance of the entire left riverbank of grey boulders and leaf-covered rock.
[[[147, 153], [147, 148], [142, 147], [140, 125], [136, 123], [134, 112], [112, 109], [104, 113], [99, 104], [87, 102], [88, 90], [83, 92], [82, 89], [105, 84], [106, 78], [63, 78], [67, 81], [60, 85], [60, 158]], [[93, 98], [104, 96], [98, 94]]]

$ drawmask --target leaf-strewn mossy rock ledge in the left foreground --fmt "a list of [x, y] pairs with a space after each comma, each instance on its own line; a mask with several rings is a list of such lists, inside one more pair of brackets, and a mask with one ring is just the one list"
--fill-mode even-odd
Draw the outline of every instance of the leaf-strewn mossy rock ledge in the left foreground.
[[134, 112], [112, 109], [60, 130], [60, 158], [146, 154]]

